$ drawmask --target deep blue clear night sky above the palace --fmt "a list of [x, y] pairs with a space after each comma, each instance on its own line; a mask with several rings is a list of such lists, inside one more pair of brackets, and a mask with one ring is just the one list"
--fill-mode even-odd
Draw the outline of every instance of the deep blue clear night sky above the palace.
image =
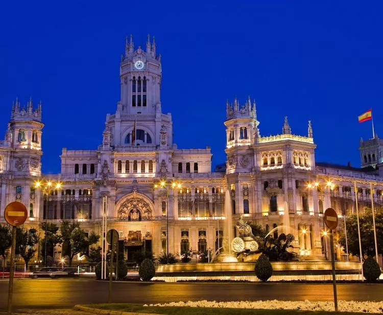
[[[166, 3], [166, 4], [164, 4]], [[257, 103], [261, 136], [294, 134], [312, 120], [317, 162], [360, 166], [383, 137], [383, 2], [7, 1], [0, 10], [0, 138], [12, 101], [42, 101], [44, 173], [60, 172], [62, 147], [97, 149], [119, 100], [125, 36], [155, 35], [162, 110], [178, 148], [211, 146], [224, 163], [226, 100]]]

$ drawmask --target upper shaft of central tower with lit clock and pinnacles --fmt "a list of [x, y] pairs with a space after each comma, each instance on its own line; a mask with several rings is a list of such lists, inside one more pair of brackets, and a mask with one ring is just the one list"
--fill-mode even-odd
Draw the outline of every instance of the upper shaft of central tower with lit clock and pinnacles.
[[121, 57], [121, 113], [154, 114], [161, 111], [161, 55], [156, 54], [156, 43], [148, 41], [146, 51], [141, 46], [134, 50], [133, 37], [126, 39], [125, 56]]

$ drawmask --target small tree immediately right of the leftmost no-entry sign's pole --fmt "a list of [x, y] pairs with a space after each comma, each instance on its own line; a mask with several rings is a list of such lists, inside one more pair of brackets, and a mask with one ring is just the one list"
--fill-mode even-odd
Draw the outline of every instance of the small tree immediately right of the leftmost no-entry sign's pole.
[[39, 236], [36, 229], [16, 230], [16, 251], [24, 259], [26, 268], [32, 257], [37, 252], [35, 245], [39, 242]]

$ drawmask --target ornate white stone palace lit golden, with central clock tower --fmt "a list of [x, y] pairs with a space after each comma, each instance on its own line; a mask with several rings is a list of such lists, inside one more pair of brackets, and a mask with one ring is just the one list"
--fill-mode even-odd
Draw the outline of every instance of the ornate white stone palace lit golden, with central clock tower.
[[[154, 38], [148, 37], [145, 50], [127, 40], [121, 100], [106, 115], [101, 144], [94, 150], [64, 147], [57, 175], [41, 173], [41, 103], [21, 106], [16, 99], [0, 141], [0, 222], [17, 200], [29, 210], [27, 226], [70, 219], [101, 235], [106, 200], [107, 228], [118, 231], [119, 249], [131, 259], [144, 249], [158, 256], [167, 246], [174, 254], [207, 247], [216, 252], [227, 218], [234, 237], [242, 215], [270, 231], [289, 225], [295, 252], [323, 258], [323, 209], [334, 208], [343, 220], [355, 211], [355, 199], [361, 208], [372, 198], [383, 204], [383, 140], [361, 140], [362, 168], [316, 163], [311, 122], [306, 136], [296, 136], [285, 117], [281, 134], [262, 137], [250, 98], [226, 104], [226, 166], [212, 171], [210, 147], [178, 149], [173, 143], [172, 115], [161, 110], [161, 69]], [[43, 185], [35, 187], [39, 181], [52, 182], [46, 195]]]

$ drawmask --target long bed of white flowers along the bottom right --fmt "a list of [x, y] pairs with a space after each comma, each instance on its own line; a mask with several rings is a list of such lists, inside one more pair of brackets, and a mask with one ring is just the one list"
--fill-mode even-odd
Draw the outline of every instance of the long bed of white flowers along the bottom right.
[[[148, 306], [145, 304], [143, 306]], [[188, 301], [171, 302], [165, 304], [150, 304], [149, 306], [188, 306], [188, 307], [223, 307], [223, 308], [252, 308], [252, 309], [296, 309], [308, 311], [334, 311], [333, 302], [313, 302], [313, 301]], [[383, 313], [383, 302], [356, 302], [356, 301], [338, 301], [338, 310], [340, 312], [368, 312]]]

